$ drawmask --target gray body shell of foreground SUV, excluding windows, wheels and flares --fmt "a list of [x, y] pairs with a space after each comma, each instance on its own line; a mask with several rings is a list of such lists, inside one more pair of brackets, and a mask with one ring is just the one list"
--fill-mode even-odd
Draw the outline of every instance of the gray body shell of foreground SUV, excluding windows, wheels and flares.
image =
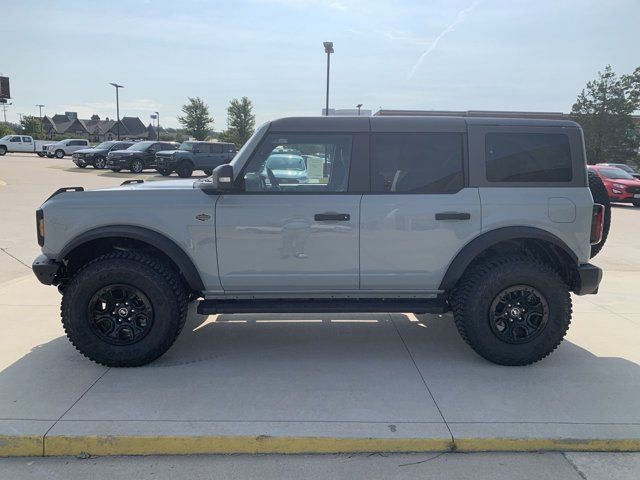
[[[565, 132], [571, 140], [571, 183], [533, 187], [486, 182], [481, 137], [496, 129]], [[262, 127], [238, 152], [231, 162], [235, 175], [242, 172], [262, 136], [274, 132], [462, 133], [469, 139], [465, 187], [451, 194], [237, 191], [207, 195], [194, 188], [193, 181], [183, 180], [69, 192], [43, 206], [47, 232], [43, 253], [58, 259], [65, 245], [97, 227], [147, 228], [184, 250], [202, 279], [207, 298], [429, 297], [438, 292], [447, 269], [465, 245], [503, 227], [547, 232], [563, 242], [578, 263], [589, 260], [593, 200], [586, 185], [581, 130], [573, 122], [286, 118]], [[355, 158], [354, 153], [353, 162]], [[352, 172], [368, 172], [368, 168], [360, 164], [356, 170], [352, 164]], [[435, 214], [441, 212], [469, 213], [469, 219], [436, 220]], [[318, 213], [348, 214], [349, 220], [316, 221]]]

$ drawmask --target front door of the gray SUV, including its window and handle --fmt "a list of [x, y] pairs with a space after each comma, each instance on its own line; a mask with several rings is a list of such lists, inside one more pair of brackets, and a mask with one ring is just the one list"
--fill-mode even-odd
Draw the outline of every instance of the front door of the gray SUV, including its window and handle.
[[225, 291], [358, 289], [359, 204], [351, 135], [270, 134], [216, 203]]

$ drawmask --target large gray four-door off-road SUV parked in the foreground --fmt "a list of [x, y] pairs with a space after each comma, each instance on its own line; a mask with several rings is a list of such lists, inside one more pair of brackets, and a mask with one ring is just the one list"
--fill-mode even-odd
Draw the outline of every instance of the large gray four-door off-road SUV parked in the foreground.
[[[284, 147], [314, 152], [305, 181], [269, 168]], [[104, 365], [158, 358], [196, 299], [204, 315], [452, 311], [478, 354], [526, 365], [602, 276], [603, 208], [570, 121], [285, 118], [207, 179], [133, 182], [63, 188], [36, 212], [33, 270]]]

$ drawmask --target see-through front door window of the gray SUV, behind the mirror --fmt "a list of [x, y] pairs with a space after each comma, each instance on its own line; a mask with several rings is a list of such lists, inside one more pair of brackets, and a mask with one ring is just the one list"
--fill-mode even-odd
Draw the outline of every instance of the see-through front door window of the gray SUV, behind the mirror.
[[346, 192], [351, 135], [268, 135], [243, 174], [247, 192]]

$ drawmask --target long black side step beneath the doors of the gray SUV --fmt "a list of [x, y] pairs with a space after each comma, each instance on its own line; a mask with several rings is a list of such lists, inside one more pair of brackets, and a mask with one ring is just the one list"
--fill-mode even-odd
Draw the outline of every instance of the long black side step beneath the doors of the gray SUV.
[[316, 298], [201, 300], [198, 313], [445, 313], [449, 311], [442, 299], [416, 298]]

